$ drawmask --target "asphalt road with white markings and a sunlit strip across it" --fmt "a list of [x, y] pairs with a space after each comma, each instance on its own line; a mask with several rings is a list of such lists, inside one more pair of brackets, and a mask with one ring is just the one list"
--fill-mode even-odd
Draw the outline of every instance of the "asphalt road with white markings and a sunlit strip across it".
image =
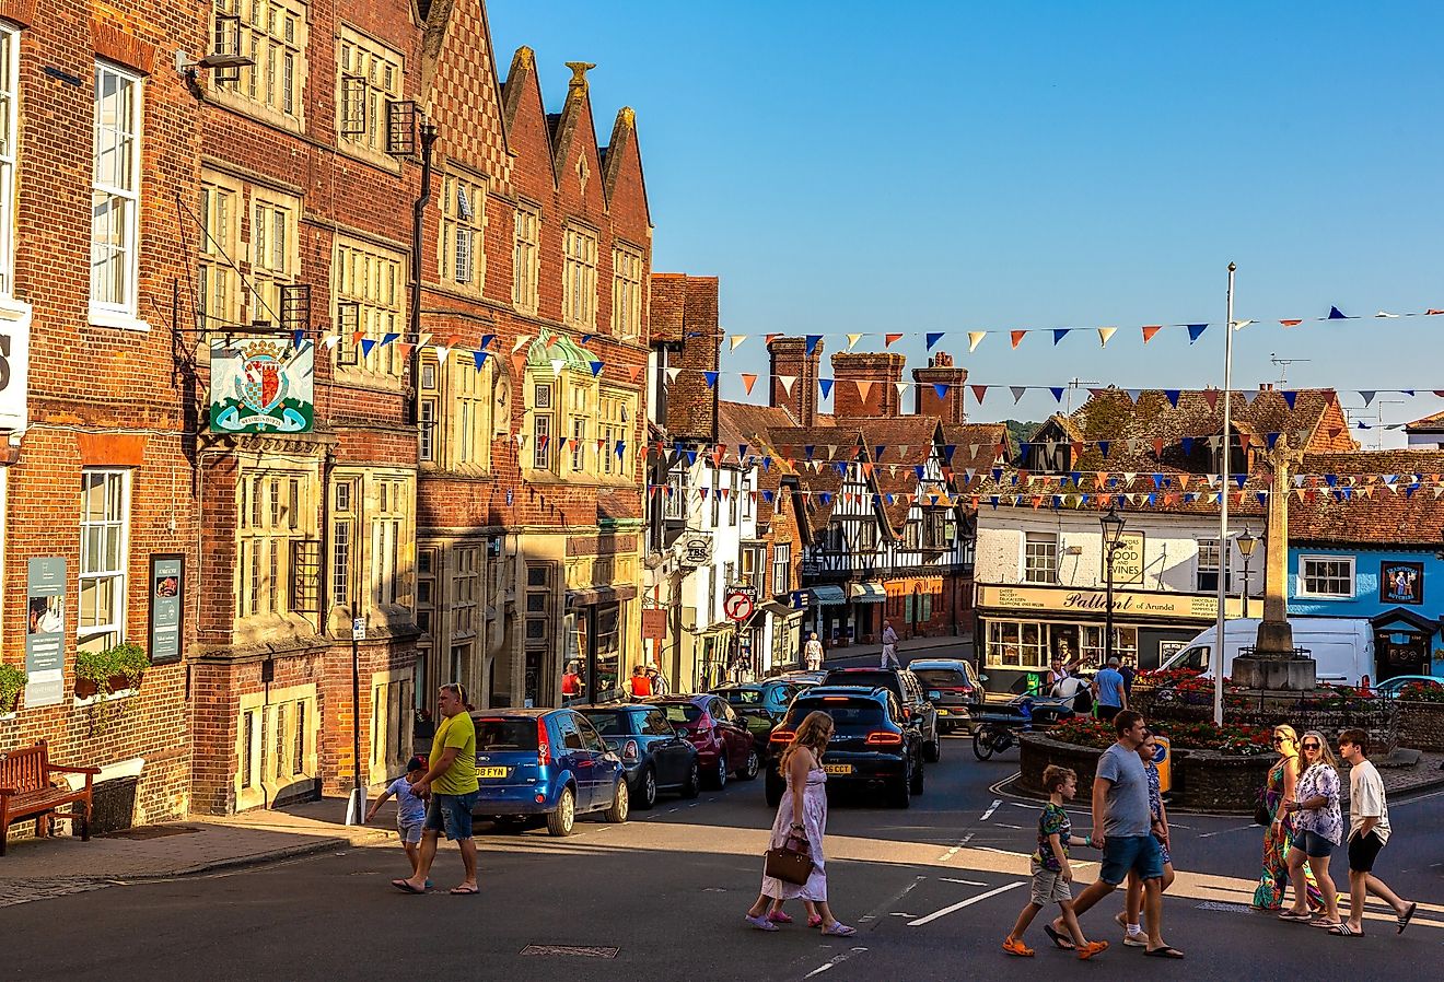
[[[378, 846], [7, 907], [0, 979], [913, 982], [1126, 972], [1272, 982], [1428, 976], [1444, 955], [1444, 793], [1435, 793], [1391, 806], [1395, 835], [1379, 872], [1421, 901], [1402, 937], [1382, 908], [1369, 936], [1353, 940], [1249, 913], [1258, 829], [1242, 817], [1177, 814], [1181, 872], [1165, 901], [1165, 934], [1184, 962], [1118, 944], [1112, 903], [1083, 921], [1090, 937], [1115, 943], [1096, 962], [1047, 949], [1038, 923], [1030, 934], [1038, 956], [1008, 957], [999, 942], [1027, 901], [1037, 813], [1035, 803], [995, 790], [1015, 765], [1017, 751], [980, 764], [966, 738], [947, 738], [911, 809], [833, 799], [830, 892], [858, 927], [852, 939], [744, 924], [771, 823], [754, 781], [696, 804], [664, 799], [619, 826], [586, 822], [570, 839], [482, 833], [481, 897], [399, 894], [387, 881], [404, 872], [403, 855]], [[1086, 830], [1084, 812], [1074, 809], [1074, 822]], [[1080, 878], [1095, 871], [1082, 865]], [[456, 853], [443, 851], [438, 885], [458, 875]]]

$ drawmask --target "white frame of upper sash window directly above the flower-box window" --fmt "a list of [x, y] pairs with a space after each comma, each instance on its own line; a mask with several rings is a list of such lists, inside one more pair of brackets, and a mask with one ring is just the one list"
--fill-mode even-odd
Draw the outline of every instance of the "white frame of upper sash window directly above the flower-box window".
[[[101, 121], [101, 91], [104, 81], [107, 78], [116, 78], [123, 82], [130, 94], [130, 118], [124, 121], [116, 120], [113, 126], [103, 126]], [[143, 131], [142, 124], [144, 120], [144, 92], [146, 81], [143, 77], [133, 71], [121, 68], [108, 61], [95, 62], [94, 74], [94, 90], [92, 98], [92, 140], [91, 144], [91, 279], [90, 279], [90, 322], [95, 326], [110, 326], [110, 328], [126, 328], [131, 331], [149, 331], [150, 325], [142, 321], [136, 312], [140, 302], [140, 257], [137, 250], [140, 247], [140, 201], [142, 201], [142, 140]], [[129, 124], [129, 126], [126, 126]], [[130, 157], [130, 186], [123, 186], [118, 183], [110, 183], [101, 181], [100, 175], [100, 147], [103, 146], [103, 137], [108, 136], [108, 142], [114, 143], [120, 139], [129, 139], [129, 157]], [[121, 296], [118, 299], [104, 299], [100, 296], [100, 240], [98, 240], [98, 225], [95, 221], [95, 205], [97, 201], [104, 196], [107, 199], [118, 199], [124, 202], [126, 214], [130, 217], [129, 221], [123, 222], [120, 230], [120, 241], [105, 248], [114, 250], [110, 260], [116, 256], [121, 257]]]

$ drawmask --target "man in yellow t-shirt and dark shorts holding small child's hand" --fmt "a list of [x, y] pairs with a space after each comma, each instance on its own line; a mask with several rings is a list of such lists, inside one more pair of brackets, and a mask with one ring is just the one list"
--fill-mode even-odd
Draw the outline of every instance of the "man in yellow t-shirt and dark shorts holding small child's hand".
[[477, 843], [471, 838], [471, 810], [481, 786], [477, 781], [477, 725], [466, 712], [466, 689], [459, 682], [446, 683], [438, 693], [436, 708], [442, 722], [432, 739], [430, 768], [412, 786], [417, 797], [430, 793], [420, 862], [410, 879], [393, 879], [391, 885], [407, 894], [425, 894], [438, 839], [445, 832], [461, 848], [461, 861], [466, 866], [466, 878], [451, 892], [478, 894], [481, 888], [477, 885]]

